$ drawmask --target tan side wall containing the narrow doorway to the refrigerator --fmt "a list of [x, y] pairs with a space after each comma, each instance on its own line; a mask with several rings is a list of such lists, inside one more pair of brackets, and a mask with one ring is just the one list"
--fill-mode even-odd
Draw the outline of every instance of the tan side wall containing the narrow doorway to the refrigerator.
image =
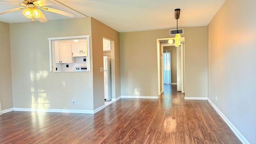
[[[100, 72], [103, 67], [103, 41], [102, 38], [108, 38], [114, 41], [114, 56], [111, 52], [111, 59], [114, 59], [112, 68], [112, 98], [121, 96], [120, 80], [120, 38], [119, 32], [91, 18], [92, 23], [92, 58], [93, 58], [93, 91], [94, 91], [94, 109], [104, 105], [104, 73]], [[113, 62], [113, 61], [112, 61]], [[113, 90], [113, 88], [112, 88]]]

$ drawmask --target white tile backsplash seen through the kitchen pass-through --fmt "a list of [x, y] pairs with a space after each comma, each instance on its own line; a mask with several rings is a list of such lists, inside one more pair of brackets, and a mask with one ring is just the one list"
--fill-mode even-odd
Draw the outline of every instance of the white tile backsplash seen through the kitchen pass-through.
[[56, 63], [56, 72], [74, 72], [75, 67], [87, 67], [86, 64], [86, 56], [83, 57], [76, 57], [75, 63], [65, 63], [65, 64], [59, 64]]

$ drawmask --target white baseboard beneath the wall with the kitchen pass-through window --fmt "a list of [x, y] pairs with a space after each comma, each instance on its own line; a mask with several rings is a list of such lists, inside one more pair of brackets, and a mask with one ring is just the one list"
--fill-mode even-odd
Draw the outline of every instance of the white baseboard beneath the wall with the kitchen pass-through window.
[[39, 108], [13, 108], [13, 109], [14, 111], [22, 111], [22, 112], [62, 112], [62, 113], [94, 114], [94, 110], [39, 109]]

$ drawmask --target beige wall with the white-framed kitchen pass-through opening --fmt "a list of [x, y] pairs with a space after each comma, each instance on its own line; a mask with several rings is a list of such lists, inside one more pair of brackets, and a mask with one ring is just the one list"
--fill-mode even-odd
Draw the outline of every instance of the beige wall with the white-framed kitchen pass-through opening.
[[91, 35], [90, 18], [10, 24], [14, 108], [94, 110], [92, 72], [49, 72], [47, 38], [80, 35]]

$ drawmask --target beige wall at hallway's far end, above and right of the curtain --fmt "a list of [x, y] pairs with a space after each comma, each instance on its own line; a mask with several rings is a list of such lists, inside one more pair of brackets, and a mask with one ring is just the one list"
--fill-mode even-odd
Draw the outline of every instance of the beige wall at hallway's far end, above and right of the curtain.
[[172, 50], [172, 83], [177, 83], [177, 48], [175, 46], [164, 46], [164, 50]]

